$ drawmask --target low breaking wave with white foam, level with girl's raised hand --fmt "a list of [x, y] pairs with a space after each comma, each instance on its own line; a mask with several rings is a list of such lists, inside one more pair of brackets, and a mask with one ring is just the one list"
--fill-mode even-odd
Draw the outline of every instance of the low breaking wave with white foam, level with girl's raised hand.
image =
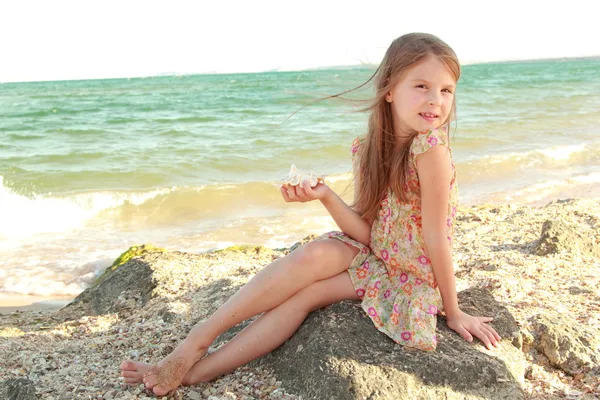
[[[349, 174], [326, 179], [342, 192]], [[7, 238], [74, 231], [86, 224], [164, 227], [231, 215], [269, 215], [286, 207], [280, 181], [25, 196], [5, 187], [3, 180], [0, 176], [0, 237]]]

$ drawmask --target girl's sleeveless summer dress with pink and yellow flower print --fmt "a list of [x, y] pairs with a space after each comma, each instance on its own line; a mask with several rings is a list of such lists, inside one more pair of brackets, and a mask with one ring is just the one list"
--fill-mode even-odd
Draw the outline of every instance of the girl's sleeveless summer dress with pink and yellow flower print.
[[[355, 174], [363, 140], [356, 138], [352, 143]], [[377, 329], [396, 343], [421, 350], [436, 348], [436, 315], [443, 305], [423, 240], [416, 156], [440, 145], [449, 145], [445, 129], [430, 130], [415, 137], [410, 147], [409, 201], [400, 203], [388, 189], [373, 222], [370, 247], [343, 232], [329, 232], [318, 238], [339, 239], [360, 249], [348, 272], [362, 300], [362, 308]], [[449, 246], [452, 246], [458, 197], [454, 164], [452, 170], [446, 224]]]

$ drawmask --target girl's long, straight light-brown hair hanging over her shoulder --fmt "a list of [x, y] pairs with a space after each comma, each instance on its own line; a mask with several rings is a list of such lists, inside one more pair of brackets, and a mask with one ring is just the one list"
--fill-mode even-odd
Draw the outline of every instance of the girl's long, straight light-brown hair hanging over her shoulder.
[[[368, 220], [377, 216], [388, 187], [401, 202], [407, 201], [410, 145], [417, 133], [403, 141], [398, 151], [392, 106], [385, 96], [410, 67], [429, 55], [438, 57], [458, 81], [460, 64], [456, 54], [441, 39], [427, 33], [409, 33], [394, 40], [371, 77], [375, 78], [375, 97], [366, 108], [370, 111], [368, 131], [360, 149], [358, 197], [353, 204]], [[453, 102], [443, 125], [447, 126], [455, 119], [456, 104]]]

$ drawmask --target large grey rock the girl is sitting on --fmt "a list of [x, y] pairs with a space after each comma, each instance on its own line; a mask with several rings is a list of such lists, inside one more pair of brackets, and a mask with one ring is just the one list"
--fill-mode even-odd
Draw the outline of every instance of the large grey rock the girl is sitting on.
[[409, 350], [375, 329], [356, 302], [313, 312], [290, 340], [255, 361], [306, 399], [521, 399], [524, 376], [515, 320], [484, 290], [459, 295], [461, 308], [493, 316], [504, 338], [487, 351], [438, 320], [435, 352]]

